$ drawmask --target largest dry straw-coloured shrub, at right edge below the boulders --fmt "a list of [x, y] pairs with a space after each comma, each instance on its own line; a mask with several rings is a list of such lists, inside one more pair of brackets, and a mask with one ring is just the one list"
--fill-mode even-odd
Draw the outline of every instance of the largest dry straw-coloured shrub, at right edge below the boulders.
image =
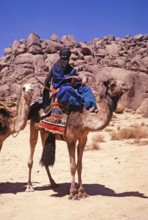
[[148, 129], [140, 125], [133, 125], [128, 128], [122, 128], [111, 133], [112, 140], [122, 139], [140, 139], [148, 137]]

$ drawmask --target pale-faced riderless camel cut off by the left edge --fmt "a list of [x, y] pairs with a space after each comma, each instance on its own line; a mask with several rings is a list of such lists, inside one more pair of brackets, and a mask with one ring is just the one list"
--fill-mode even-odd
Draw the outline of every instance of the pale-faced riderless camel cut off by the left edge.
[[0, 151], [4, 140], [10, 135], [23, 130], [28, 120], [28, 113], [33, 95], [33, 85], [25, 84], [14, 114], [4, 103], [0, 106]]

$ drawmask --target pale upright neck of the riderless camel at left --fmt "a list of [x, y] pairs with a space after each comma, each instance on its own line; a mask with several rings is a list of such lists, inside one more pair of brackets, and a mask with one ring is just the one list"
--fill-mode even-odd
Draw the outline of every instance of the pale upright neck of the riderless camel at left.
[[20, 98], [17, 115], [13, 120], [12, 129], [14, 130], [14, 132], [23, 130], [25, 128], [28, 119], [30, 103], [31, 97], [23, 95]]

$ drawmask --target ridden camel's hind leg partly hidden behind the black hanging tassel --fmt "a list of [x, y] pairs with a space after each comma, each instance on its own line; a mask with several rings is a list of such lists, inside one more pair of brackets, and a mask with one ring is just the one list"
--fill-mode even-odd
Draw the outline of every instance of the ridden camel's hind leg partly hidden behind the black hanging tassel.
[[[42, 140], [42, 146], [43, 148], [45, 147], [45, 142], [46, 142], [46, 139], [48, 137], [48, 133], [47, 132], [44, 132], [44, 131], [41, 131], [41, 140]], [[45, 169], [46, 169], [46, 172], [47, 172], [47, 175], [48, 175], [48, 178], [49, 178], [49, 181], [50, 181], [50, 184], [52, 187], [57, 187], [58, 184], [56, 184], [56, 182], [54, 181], [54, 179], [52, 178], [51, 176], [51, 173], [50, 173], [50, 170], [49, 170], [49, 167], [48, 166], [45, 166]]]

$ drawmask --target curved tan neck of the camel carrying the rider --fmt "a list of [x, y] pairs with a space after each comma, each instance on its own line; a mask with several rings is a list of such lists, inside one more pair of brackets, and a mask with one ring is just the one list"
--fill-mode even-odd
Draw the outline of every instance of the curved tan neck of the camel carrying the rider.
[[99, 131], [105, 128], [111, 121], [113, 111], [118, 100], [109, 97], [103, 98], [98, 113], [91, 113], [85, 118], [85, 125], [90, 131]]

